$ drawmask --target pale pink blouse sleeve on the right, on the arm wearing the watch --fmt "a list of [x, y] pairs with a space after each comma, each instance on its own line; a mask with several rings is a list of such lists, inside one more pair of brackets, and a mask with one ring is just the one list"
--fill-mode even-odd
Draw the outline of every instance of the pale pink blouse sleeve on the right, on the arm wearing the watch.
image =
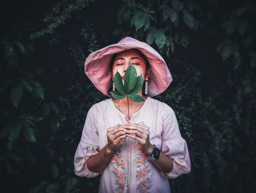
[[163, 110], [162, 152], [173, 159], [173, 169], [163, 173], [167, 178], [178, 178], [190, 173], [190, 158], [186, 141], [181, 137], [176, 115], [171, 107], [165, 104]]

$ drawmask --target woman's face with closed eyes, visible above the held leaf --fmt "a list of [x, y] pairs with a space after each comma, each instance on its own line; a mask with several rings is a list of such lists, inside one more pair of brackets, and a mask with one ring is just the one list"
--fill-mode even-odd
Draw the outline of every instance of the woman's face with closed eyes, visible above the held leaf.
[[113, 77], [116, 72], [119, 72], [124, 80], [124, 73], [130, 65], [135, 67], [138, 76], [142, 75], [143, 80], [148, 78], [149, 70], [146, 69], [146, 61], [135, 50], [126, 50], [117, 53], [116, 59], [113, 61]]

